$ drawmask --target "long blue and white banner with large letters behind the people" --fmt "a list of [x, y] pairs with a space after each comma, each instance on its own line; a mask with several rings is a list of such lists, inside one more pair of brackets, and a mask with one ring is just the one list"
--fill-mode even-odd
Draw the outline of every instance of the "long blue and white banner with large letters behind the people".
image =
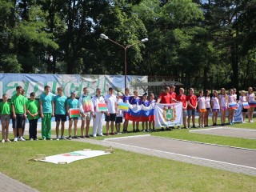
[[[138, 90], [139, 94], [144, 91], [140, 87], [133, 87], [133, 84], [147, 82], [147, 76], [127, 75], [126, 82], [133, 90]], [[90, 96], [95, 94], [97, 87], [102, 89], [102, 94], [108, 93], [109, 87], [117, 92], [124, 93], [125, 78], [124, 75], [93, 75], [93, 74], [0, 74], [0, 98], [2, 94], [7, 94], [8, 98], [16, 94], [16, 86], [22, 86], [26, 90], [26, 97], [30, 98], [30, 93], [34, 92], [36, 98], [42, 94], [44, 86], [50, 86], [50, 91], [57, 94], [57, 88], [62, 86], [63, 93], [70, 97], [72, 90], [77, 91], [77, 97], [82, 94], [83, 87], [88, 87]]]

